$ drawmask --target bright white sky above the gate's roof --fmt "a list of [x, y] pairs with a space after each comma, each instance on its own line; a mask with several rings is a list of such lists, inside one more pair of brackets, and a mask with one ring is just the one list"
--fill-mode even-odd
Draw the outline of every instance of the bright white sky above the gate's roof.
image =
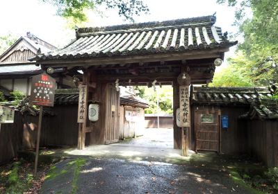
[[[222, 32], [236, 33], [234, 8], [218, 5], [216, 0], [145, 0], [149, 6], [149, 14], [135, 17], [136, 22], [164, 21], [188, 17], [213, 15], [216, 12], [216, 24]], [[111, 26], [127, 24], [116, 10], [99, 8], [104, 17], [93, 12], [89, 13], [89, 22], [85, 26]], [[0, 3], [0, 36], [12, 33], [15, 36], [31, 32], [54, 46], [64, 46], [74, 39], [75, 32], [66, 28], [65, 19], [56, 15], [56, 8], [42, 0], [8, 0]], [[226, 58], [234, 55], [234, 48], [226, 53]]]

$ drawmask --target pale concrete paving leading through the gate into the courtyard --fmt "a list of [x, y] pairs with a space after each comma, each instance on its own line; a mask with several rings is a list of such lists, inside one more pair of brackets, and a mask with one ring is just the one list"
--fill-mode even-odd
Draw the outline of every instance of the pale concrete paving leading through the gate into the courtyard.
[[126, 159], [128, 161], [161, 161], [179, 164], [188, 161], [181, 150], [175, 150], [172, 129], [145, 129], [143, 136], [131, 141], [110, 145], [91, 145], [84, 150], [67, 149], [63, 152], [72, 156]]

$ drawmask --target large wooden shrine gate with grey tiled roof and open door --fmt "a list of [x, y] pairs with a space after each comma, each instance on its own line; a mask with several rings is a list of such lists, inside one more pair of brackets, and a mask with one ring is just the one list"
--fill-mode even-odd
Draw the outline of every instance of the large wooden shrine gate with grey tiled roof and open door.
[[186, 150], [188, 86], [210, 82], [215, 65], [220, 65], [224, 52], [237, 43], [229, 41], [227, 33], [222, 34], [215, 20], [215, 16], [206, 16], [78, 28], [76, 39], [65, 48], [33, 58], [42, 69], [64, 68], [73, 74], [83, 70], [81, 85], [88, 88], [85, 103], [97, 103], [100, 116], [95, 123], [87, 118], [79, 123], [78, 148], [84, 148], [85, 139], [90, 139], [90, 144], [117, 140], [118, 85], [172, 85], [174, 109], [180, 107], [183, 118], [181, 129], [174, 116], [174, 148], [183, 144]]

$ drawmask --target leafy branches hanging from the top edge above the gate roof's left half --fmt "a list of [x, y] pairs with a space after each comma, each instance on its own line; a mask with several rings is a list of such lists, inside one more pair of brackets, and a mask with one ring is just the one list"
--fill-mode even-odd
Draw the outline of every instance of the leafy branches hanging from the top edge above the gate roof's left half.
[[95, 10], [99, 6], [106, 9], [116, 8], [119, 15], [133, 21], [134, 15], [149, 12], [149, 8], [141, 0], [40, 0], [57, 7], [57, 15], [75, 22], [87, 21], [85, 10]]

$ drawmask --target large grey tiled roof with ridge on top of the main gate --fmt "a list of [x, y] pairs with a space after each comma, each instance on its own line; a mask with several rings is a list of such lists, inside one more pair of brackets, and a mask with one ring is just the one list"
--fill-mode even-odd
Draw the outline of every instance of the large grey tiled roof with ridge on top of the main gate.
[[57, 60], [142, 55], [147, 53], [188, 52], [196, 49], [229, 47], [227, 34], [215, 27], [214, 16], [177, 19], [142, 24], [79, 28], [76, 39], [65, 46], [32, 60]]

